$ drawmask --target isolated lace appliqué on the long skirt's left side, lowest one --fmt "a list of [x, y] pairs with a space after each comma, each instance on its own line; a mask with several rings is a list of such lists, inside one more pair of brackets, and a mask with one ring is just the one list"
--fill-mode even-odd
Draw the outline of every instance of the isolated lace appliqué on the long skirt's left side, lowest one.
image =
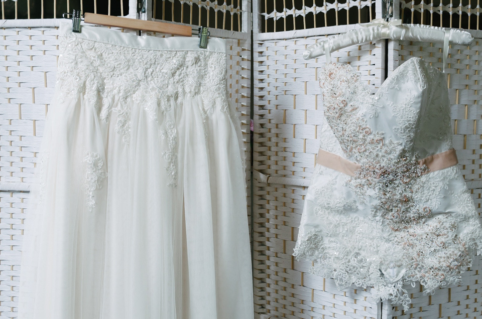
[[89, 212], [95, 207], [94, 191], [102, 187], [102, 180], [107, 176], [102, 170], [103, 162], [99, 153], [86, 152], [84, 156], [85, 166], [85, 204]]

